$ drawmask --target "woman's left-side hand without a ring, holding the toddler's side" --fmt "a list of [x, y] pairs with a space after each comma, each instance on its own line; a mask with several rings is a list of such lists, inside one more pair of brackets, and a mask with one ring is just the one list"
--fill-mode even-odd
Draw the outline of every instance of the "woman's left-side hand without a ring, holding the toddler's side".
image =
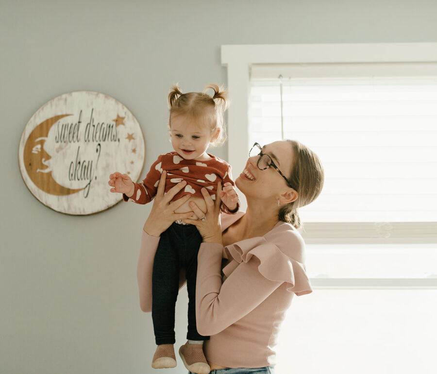
[[164, 195], [164, 190], [166, 187], [166, 175], [167, 172], [163, 170], [161, 174], [161, 179], [159, 180], [158, 189], [156, 191], [155, 199], [153, 200], [153, 206], [150, 215], [144, 223], [143, 230], [153, 236], [159, 237], [165, 230], [170, 227], [170, 225], [176, 220], [184, 220], [185, 218], [191, 217], [193, 212], [186, 213], [175, 213], [174, 211], [181, 205], [185, 204], [190, 195], [185, 195], [180, 199], [172, 202], [170, 201], [173, 197], [186, 185], [185, 181], [179, 182], [176, 186], [170, 188], [168, 192]]

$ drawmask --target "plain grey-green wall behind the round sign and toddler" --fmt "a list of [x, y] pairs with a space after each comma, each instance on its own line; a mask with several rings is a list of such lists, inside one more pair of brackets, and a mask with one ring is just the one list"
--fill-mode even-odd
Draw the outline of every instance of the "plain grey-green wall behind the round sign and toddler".
[[[75, 90], [124, 103], [146, 138], [144, 175], [170, 150], [169, 86], [226, 83], [220, 45], [436, 42], [436, 14], [432, 0], [1, 0], [0, 372], [151, 372], [151, 315], [141, 312], [136, 285], [150, 206], [74, 217], [37, 201], [17, 150], [42, 104]], [[226, 159], [226, 145], [215, 153]], [[184, 292], [177, 345], [186, 300]], [[159, 373], [185, 370], [178, 359]]]

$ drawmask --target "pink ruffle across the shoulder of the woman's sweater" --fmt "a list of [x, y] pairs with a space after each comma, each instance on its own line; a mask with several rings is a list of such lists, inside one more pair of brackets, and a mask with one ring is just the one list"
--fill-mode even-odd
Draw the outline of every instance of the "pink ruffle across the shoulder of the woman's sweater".
[[[293, 245], [293, 240], [291, 244]], [[264, 237], [245, 239], [225, 247], [228, 258], [247, 263], [253, 256], [259, 260], [258, 270], [266, 279], [287, 283], [287, 291], [301, 296], [311, 293], [311, 284], [303, 263], [284, 253], [278, 245]], [[226, 277], [235, 269], [232, 262], [223, 268]]]

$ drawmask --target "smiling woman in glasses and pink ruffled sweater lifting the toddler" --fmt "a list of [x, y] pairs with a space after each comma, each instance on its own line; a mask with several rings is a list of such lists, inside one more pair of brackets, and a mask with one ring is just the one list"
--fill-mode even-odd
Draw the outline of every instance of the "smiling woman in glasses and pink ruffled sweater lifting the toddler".
[[[197, 328], [211, 338], [204, 344], [212, 372], [272, 373], [279, 328], [293, 294], [311, 292], [303, 264], [303, 239], [297, 209], [314, 201], [323, 186], [323, 169], [315, 153], [301, 143], [255, 143], [243, 172], [235, 180], [247, 211], [221, 215], [216, 201], [202, 192], [207, 211], [190, 204], [190, 213], [174, 213], [188, 197], [169, 204], [185, 182], [164, 196], [158, 187], [144, 224], [138, 259], [138, 286], [143, 311], [151, 310], [153, 257], [160, 234], [175, 220], [197, 226], [203, 242], [198, 255]], [[161, 177], [164, 183], [165, 175]], [[222, 259], [224, 259], [222, 261]], [[224, 264], [223, 264], [224, 262]], [[222, 264], [224, 266], [222, 266]], [[180, 349], [195, 372], [193, 347]], [[235, 369], [228, 369], [235, 368]]]

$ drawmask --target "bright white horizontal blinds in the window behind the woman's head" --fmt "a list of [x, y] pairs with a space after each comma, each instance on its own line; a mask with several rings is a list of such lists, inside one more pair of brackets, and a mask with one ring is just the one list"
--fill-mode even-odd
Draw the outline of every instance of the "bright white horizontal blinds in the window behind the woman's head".
[[[437, 79], [283, 81], [284, 136], [325, 169], [303, 221], [437, 221]], [[249, 146], [281, 137], [279, 80], [251, 81]]]

